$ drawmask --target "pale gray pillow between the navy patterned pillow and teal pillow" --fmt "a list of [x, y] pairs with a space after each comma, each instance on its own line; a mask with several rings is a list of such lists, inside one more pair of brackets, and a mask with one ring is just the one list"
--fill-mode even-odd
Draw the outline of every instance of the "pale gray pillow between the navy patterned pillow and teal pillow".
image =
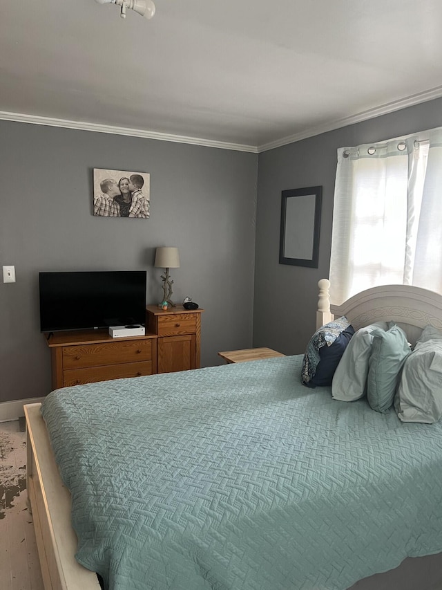
[[387, 331], [387, 322], [376, 322], [359, 329], [348, 343], [332, 381], [332, 398], [345, 402], [358, 400], [367, 393], [368, 361], [374, 329]]

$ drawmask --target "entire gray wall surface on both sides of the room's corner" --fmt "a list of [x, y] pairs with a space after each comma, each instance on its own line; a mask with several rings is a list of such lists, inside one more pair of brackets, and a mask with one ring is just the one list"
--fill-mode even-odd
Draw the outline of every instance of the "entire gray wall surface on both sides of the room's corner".
[[[0, 402], [50, 391], [39, 271], [146, 269], [148, 303], [157, 302], [155, 246], [180, 248], [182, 266], [171, 270], [175, 299], [191, 295], [206, 310], [202, 366], [220, 364], [218, 351], [252, 342], [304, 352], [315, 329], [317, 282], [329, 273], [336, 150], [441, 125], [439, 99], [258, 158], [0, 121], [0, 266], [15, 264], [17, 272], [16, 284], [0, 282]], [[150, 172], [151, 219], [94, 217], [94, 167]], [[281, 191], [314, 185], [323, 186], [319, 268], [281, 265]]]

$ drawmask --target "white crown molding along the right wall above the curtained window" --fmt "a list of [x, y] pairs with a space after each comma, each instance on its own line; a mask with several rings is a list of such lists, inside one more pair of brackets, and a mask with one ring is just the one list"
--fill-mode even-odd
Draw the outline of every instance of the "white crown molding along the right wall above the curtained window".
[[436, 88], [432, 88], [430, 90], [426, 90], [418, 94], [407, 96], [406, 98], [403, 98], [401, 100], [387, 102], [386, 104], [381, 105], [381, 107], [376, 107], [374, 109], [362, 111], [361, 113], [357, 113], [356, 115], [325, 123], [325, 125], [319, 125], [318, 127], [310, 127], [309, 129], [305, 129], [305, 131], [295, 133], [295, 135], [285, 137], [280, 140], [276, 140], [263, 145], [259, 145], [257, 148], [258, 154], [260, 154], [262, 151], [269, 151], [269, 149], [275, 149], [276, 147], [289, 145], [289, 143], [295, 143], [302, 139], [307, 139], [309, 137], [320, 135], [321, 133], [326, 133], [327, 131], [334, 131], [334, 129], [347, 127], [347, 125], [354, 125], [354, 123], [360, 123], [362, 121], [374, 119], [375, 117], [387, 115], [389, 113], [393, 113], [394, 111], [400, 111], [401, 109], [406, 109], [407, 107], [414, 107], [414, 105], [416, 104], [420, 104], [421, 102], [428, 102], [429, 100], [434, 100], [436, 98], [441, 98], [441, 96], [442, 86], [436, 86]]

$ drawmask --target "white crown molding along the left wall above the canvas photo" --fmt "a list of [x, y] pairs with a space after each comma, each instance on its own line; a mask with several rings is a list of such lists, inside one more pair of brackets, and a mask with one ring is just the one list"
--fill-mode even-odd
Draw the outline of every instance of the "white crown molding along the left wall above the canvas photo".
[[7, 111], [0, 111], [0, 120], [15, 121], [20, 123], [31, 123], [33, 125], [47, 125], [49, 127], [64, 127], [66, 129], [80, 129], [81, 131], [95, 131], [95, 133], [113, 133], [113, 135], [142, 137], [146, 139], [155, 139], [158, 141], [171, 141], [175, 143], [188, 143], [191, 145], [202, 145], [204, 147], [217, 147], [218, 149], [249, 151], [252, 154], [258, 154], [258, 148], [254, 145], [241, 145], [238, 143], [202, 139], [198, 137], [179, 136], [173, 135], [173, 133], [159, 133], [157, 131], [147, 131], [146, 129], [114, 127], [113, 125], [100, 125], [98, 123], [90, 123], [85, 121], [70, 121], [68, 119], [40, 117], [37, 115], [27, 115], [25, 113], [8, 113]]

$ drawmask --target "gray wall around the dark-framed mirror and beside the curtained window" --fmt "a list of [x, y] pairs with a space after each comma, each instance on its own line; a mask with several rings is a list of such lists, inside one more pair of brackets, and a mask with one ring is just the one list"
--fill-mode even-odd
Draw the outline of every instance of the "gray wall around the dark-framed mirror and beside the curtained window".
[[[442, 100], [438, 99], [259, 155], [254, 346], [304, 353], [315, 331], [317, 283], [329, 276], [338, 147], [440, 126]], [[319, 268], [279, 264], [281, 191], [316, 185], [323, 186]]]

